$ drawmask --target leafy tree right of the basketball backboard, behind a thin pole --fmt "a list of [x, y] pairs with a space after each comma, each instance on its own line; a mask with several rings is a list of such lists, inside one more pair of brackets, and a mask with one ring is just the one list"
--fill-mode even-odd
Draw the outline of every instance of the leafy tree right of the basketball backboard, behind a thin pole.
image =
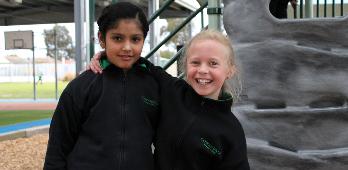
[[47, 46], [47, 56], [55, 57], [54, 30], [56, 30], [58, 60], [62, 57], [67, 59], [75, 58], [75, 46], [69, 30], [65, 26], [55, 25], [53, 29], [44, 29], [45, 44]]

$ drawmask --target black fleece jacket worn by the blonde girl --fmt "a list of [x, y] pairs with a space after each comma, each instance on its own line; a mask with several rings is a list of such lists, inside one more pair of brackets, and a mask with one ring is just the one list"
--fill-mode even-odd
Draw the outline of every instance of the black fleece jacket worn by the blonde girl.
[[161, 88], [156, 135], [156, 169], [250, 169], [242, 125], [232, 98], [204, 98], [184, 80], [158, 66], [151, 71]]

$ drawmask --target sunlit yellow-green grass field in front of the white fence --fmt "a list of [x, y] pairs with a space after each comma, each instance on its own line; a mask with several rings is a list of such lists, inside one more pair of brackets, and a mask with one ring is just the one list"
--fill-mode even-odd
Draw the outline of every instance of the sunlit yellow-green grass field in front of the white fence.
[[[69, 82], [58, 82], [58, 98]], [[34, 84], [30, 82], [24, 83], [0, 83], [1, 99], [33, 99]], [[43, 82], [36, 85], [37, 99], [55, 99], [56, 83]]]

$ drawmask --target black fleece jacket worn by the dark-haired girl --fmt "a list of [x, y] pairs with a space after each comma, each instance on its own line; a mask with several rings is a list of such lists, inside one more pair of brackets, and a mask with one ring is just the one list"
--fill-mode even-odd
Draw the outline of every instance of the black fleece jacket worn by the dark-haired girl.
[[[63, 91], [49, 129], [44, 169], [153, 169], [159, 87], [140, 58], [124, 74], [85, 71]], [[108, 65], [109, 64], [109, 65]]]

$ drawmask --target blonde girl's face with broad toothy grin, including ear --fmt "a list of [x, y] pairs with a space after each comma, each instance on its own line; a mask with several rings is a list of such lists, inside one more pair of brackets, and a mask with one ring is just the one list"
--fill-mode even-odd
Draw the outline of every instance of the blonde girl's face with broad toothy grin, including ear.
[[228, 69], [227, 49], [215, 40], [201, 40], [187, 52], [187, 79], [195, 91], [217, 100], [222, 84], [232, 77], [235, 66]]

